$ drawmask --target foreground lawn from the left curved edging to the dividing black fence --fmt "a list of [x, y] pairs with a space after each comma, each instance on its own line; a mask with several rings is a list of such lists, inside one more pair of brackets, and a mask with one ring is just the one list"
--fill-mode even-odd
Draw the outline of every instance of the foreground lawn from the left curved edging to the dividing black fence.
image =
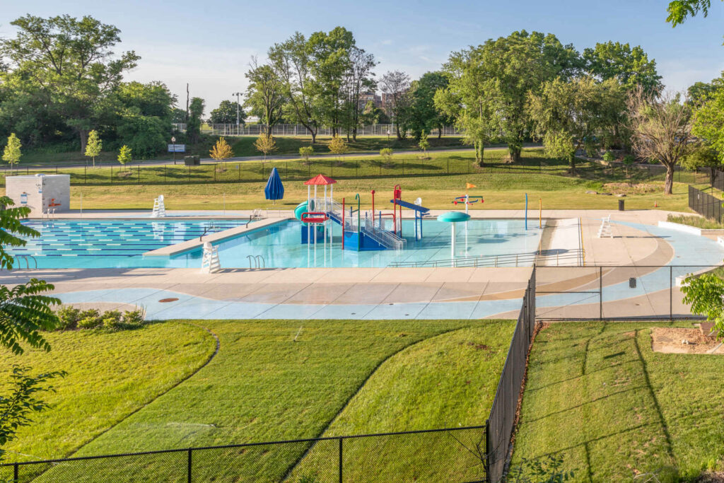
[[[75, 455], [318, 437], [332, 421], [329, 430], [335, 434], [484, 424], [513, 331], [513, 322], [196, 322], [219, 336], [218, 355]], [[365, 424], [367, 408], [374, 408], [375, 416]], [[479, 439], [481, 432], [466, 435], [471, 437]], [[421, 442], [413, 441], [413, 448], [425, 448]], [[232, 475], [243, 475], [240, 481], [278, 480], [309, 446], [199, 453], [194, 478], [208, 481], [215, 474], [222, 481]], [[470, 458], [459, 445], [455, 450], [459, 458]], [[357, 460], [353, 455], [346, 462], [363, 465], [365, 455], [358, 453]], [[336, 461], [330, 463], [334, 469]], [[428, 463], [423, 474], [433, 474], [439, 466], [439, 461]], [[386, 464], [397, 468], [396, 461]], [[57, 466], [38, 481], [109, 472], [119, 482], [140, 481], [149, 474], [175, 481], [185, 469], [185, 453], [94, 460]]]

